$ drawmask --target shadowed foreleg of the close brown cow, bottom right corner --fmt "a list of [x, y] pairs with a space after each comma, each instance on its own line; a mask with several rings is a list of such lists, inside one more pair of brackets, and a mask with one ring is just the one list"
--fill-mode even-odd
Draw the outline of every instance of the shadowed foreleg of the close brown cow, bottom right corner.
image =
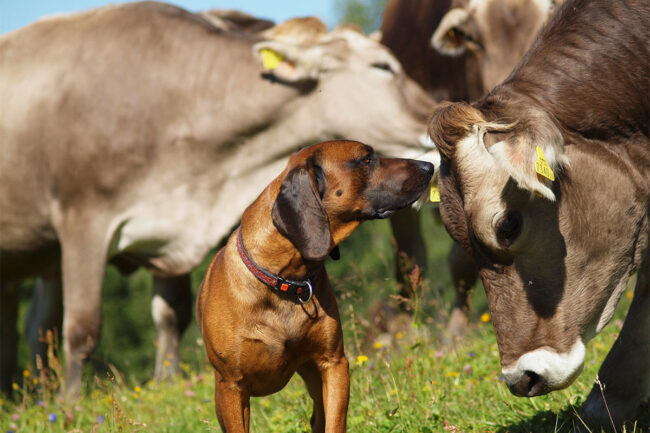
[[602, 391], [596, 382], [582, 406], [582, 415], [594, 426], [611, 429], [611, 414], [618, 428], [650, 397], [650, 257], [647, 253], [637, 274], [634, 298], [623, 328], [600, 367], [598, 379]]

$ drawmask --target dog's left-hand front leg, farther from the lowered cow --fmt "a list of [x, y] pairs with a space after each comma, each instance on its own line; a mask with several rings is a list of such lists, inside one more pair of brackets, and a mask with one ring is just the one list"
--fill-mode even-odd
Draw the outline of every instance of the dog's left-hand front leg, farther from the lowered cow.
[[214, 372], [214, 406], [224, 433], [248, 433], [250, 397], [239, 384]]

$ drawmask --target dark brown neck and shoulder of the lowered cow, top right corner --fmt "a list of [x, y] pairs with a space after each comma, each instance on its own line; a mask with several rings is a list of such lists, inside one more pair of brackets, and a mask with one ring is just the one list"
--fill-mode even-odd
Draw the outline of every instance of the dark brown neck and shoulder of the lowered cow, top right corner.
[[645, 0], [565, 4], [504, 87], [533, 95], [563, 127], [588, 138], [607, 140], [638, 131], [647, 136], [648, 22]]

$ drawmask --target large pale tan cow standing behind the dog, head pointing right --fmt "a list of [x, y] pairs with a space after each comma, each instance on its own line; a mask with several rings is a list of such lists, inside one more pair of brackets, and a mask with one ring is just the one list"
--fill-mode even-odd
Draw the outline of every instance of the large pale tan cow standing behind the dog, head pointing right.
[[[108, 259], [187, 273], [301, 146], [420, 152], [431, 100], [385, 47], [350, 31], [298, 44], [281, 28], [261, 40], [132, 3], [0, 37], [2, 280], [61, 260], [70, 395], [99, 336]], [[156, 311], [173, 316], [160, 297]]]

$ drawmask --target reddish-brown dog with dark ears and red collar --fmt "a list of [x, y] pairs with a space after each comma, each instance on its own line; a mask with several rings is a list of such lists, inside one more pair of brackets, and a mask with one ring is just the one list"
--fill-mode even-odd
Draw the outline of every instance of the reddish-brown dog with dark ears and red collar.
[[364, 220], [415, 201], [432, 174], [428, 162], [378, 158], [362, 143], [320, 143], [294, 153], [244, 211], [197, 305], [225, 432], [248, 432], [250, 397], [295, 372], [314, 401], [312, 431], [345, 431], [350, 375], [324, 260]]

